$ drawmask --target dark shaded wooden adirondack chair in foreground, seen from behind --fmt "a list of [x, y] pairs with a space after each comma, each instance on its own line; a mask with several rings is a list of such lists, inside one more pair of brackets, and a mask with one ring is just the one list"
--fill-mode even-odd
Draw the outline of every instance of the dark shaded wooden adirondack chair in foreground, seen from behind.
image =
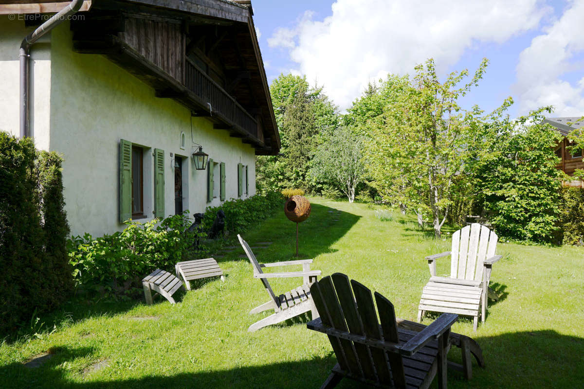
[[343, 377], [384, 388], [427, 388], [436, 374], [438, 387], [446, 388], [450, 327], [458, 315], [445, 313], [412, 335], [399, 330], [389, 300], [376, 292], [376, 313], [371, 290], [344, 274], [326, 276], [310, 291], [321, 316], [307, 327], [328, 335], [338, 362], [321, 389]]

